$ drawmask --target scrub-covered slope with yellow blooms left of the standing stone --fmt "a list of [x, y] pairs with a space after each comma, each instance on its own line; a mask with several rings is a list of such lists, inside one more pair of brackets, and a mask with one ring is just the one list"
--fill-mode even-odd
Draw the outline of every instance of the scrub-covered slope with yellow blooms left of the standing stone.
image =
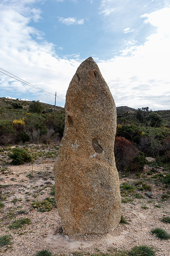
[[63, 108], [0, 98], [0, 145], [50, 143], [63, 136]]

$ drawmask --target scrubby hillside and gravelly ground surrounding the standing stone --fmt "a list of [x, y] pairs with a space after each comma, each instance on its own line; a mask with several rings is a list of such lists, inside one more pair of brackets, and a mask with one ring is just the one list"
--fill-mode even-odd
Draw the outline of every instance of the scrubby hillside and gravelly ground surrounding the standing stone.
[[[64, 108], [57, 107], [54, 114], [54, 106], [40, 103], [43, 109], [38, 114], [28, 112], [33, 102], [23, 101], [22, 107], [15, 103], [0, 99], [0, 256], [142, 256], [134, 246], [143, 244], [157, 250], [150, 255], [167, 256], [168, 240], [158, 239], [151, 231], [156, 227], [166, 231], [169, 225], [169, 129], [144, 127], [133, 121], [133, 109], [117, 108], [122, 116], [118, 122], [124, 120], [125, 124], [117, 126], [114, 148], [122, 196], [121, 222], [107, 235], [64, 236], [55, 205], [53, 172]], [[17, 106], [20, 108], [14, 108]], [[169, 111], [159, 113], [168, 120]], [[148, 163], [145, 156], [154, 159]], [[4, 237], [8, 240], [3, 244]], [[48, 254], [43, 253], [45, 249]]]

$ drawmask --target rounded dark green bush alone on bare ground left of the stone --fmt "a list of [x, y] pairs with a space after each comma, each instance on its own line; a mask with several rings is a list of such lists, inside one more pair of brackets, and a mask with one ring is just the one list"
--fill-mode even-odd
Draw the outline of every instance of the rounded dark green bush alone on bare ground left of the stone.
[[22, 148], [13, 148], [12, 153], [9, 154], [9, 157], [12, 159], [11, 163], [14, 165], [24, 164], [32, 161], [31, 155]]

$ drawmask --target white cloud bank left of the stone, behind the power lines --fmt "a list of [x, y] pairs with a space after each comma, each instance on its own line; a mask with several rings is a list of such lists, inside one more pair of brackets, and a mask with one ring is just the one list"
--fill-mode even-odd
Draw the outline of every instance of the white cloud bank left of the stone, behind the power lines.
[[[2, 5], [1, 5], [2, 6]], [[43, 39], [43, 33], [29, 26], [32, 19], [30, 10], [25, 15], [15, 8], [0, 9], [0, 67], [42, 89], [65, 98], [67, 87], [76, 67], [78, 56], [59, 58], [54, 44]], [[41, 41], [33, 38], [38, 37]], [[60, 48], [61, 49], [61, 48]], [[32, 100], [50, 102], [53, 97], [0, 73], [1, 92], [31, 93]], [[9, 93], [8, 93], [9, 92]], [[27, 97], [28, 98], [28, 97]]]

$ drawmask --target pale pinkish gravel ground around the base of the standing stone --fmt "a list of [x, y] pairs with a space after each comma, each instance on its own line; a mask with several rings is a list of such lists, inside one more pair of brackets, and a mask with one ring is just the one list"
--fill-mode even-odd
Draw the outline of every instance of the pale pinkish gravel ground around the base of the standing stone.
[[[0, 184], [4, 200], [4, 208], [0, 212], [0, 231], [2, 235], [12, 236], [12, 244], [1, 248], [0, 256], [33, 256], [37, 251], [49, 249], [54, 254], [71, 255], [72, 252], [96, 253], [96, 248], [107, 252], [109, 248], [116, 250], [130, 249], [135, 245], [148, 245], [157, 249], [156, 255], [170, 255], [170, 240], [160, 240], [152, 235], [152, 228], [159, 227], [169, 232], [170, 224], [160, 221], [163, 216], [170, 215], [169, 199], [161, 201], [161, 194], [165, 193], [163, 186], [159, 187], [151, 179], [149, 185], [152, 193], [148, 191], [135, 191], [144, 197], [137, 199], [134, 195], [133, 202], [122, 203], [122, 215], [128, 220], [128, 224], [119, 224], [111, 233], [105, 236], [83, 235], [63, 236], [61, 220], [57, 209], [54, 207], [49, 212], [39, 212], [32, 206], [33, 201], [41, 201], [51, 195], [55, 184], [53, 166], [54, 159], [44, 159], [33, 165], [33, 177], [27, 177], [31, 173], [32, 165], [24, 164], [9, 166], [7, 173], [0, 172]], [[145, 172], [149, 169], [145, 166]], [[159, 172], [162, 170], [160, 169]], [[162, 171], [163, 172], [163, 171]], [[147, 177], [151, 177], [147, 175]], [[138, 180], [133, 177], [121, 177], [120, 183], [135, 183]], [[148, 181], [149, 182], [149, 181]], [[10, 186], [9, 186], [10, 185]], [[166, 189], [167, 191], [167, 189]], [[18, 201], [11, 202], [14, 198]], [[160, 208], [155, 207], [159, 205]], [[147, 206], [142, 209], [141, 206]], [[24, 213], [18, 211], [25, 210]], [[13, 220], [21, 217], [31, 219], [31, 224], [20, 229], [9, 229]], [[71, 255], [72, 256], [72, 255]]]

